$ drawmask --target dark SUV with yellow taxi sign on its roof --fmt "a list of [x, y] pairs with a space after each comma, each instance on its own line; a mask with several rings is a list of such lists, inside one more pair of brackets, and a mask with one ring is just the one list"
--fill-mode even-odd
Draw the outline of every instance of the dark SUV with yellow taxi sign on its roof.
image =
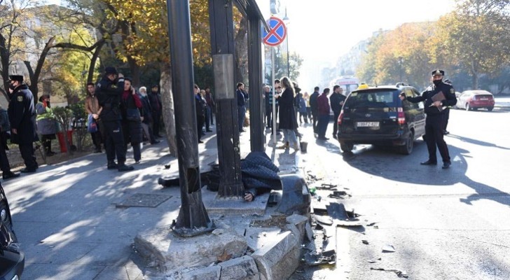
[[398, 146], [409, 155], [415, 139], [425, 134], [423, 103], [401, 101], [399, 94], [420, 95], [414, 87], [398, 83], [352, 91], [338, 117], [338, 142], [343, 152], [354, 144]]

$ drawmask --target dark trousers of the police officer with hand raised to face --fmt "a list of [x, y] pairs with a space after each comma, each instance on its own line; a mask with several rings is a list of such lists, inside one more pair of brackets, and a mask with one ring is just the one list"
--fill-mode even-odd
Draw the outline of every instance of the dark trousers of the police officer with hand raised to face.
[[120, 120], [102, 120], [101, 132], [103, 135], [104, 149], [106, 150], [106, 160], [113, 162], [117, 156], [119, 165], [125, 162], [124, 134]]

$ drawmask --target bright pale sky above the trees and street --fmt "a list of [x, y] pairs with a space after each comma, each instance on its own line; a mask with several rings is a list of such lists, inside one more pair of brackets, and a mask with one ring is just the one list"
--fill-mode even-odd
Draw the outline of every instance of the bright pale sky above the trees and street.
[[[46, 0], [60, 3], [60, 0]], [[270, 0], [256, 0], [266, 18]], [[395, 29], [406, 22], [438, 20], [455, 7], [455, 0], [280, 0], [279, 18], [287, 7], [287, 38], [290, 52], [298, 52], [304, 62], [301, 81], [317, 64], [334, 66], [338, 57], [379, 29]], [[329, 64], [329, 65], [328, 65]], [[308, 85], [310, 84], [310, 85]]]

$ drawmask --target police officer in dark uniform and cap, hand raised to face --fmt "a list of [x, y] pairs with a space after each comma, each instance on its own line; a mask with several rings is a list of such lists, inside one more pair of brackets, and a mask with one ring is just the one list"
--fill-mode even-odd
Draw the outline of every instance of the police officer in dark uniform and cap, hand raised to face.
[[[117, 73], [114, 67], [104, 69], [103, 78], [96, 85], [96, 95], [102, 111], [99, 114], [101, 132], [106, 148], [108, 169], [119, 172], [131, 171], [134, 168], [125, 165], [125, 149], [122, 125], [120, 123], [120, 98], [124, 91], [124, 76]], [[118, 78], [117, 78], [118, 76]], [[117, 155], [117, 163], [115, 156]]]

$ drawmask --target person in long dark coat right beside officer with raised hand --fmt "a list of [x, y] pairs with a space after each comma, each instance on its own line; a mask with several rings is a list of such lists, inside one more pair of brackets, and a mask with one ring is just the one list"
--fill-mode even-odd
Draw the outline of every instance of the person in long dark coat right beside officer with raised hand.
[[136, 120], [127, 118], [128, 109], [136, 109], [142, 111], [142, 101], [138, 96], [135, 88], [131, 87], [131, 79], [125, 78], [124, 80], [124, 92], [122, 94], [122, 100], [120, 102], [120, 110], [122, 112], [122, 130], [124, 134], [124, 145], [127, 150], [127, 143], [131, 143], [133, 147], [133, 158], [135, 163], [140, 163], [142, 160], [142, 117], [143, 113], [138, 114]]

